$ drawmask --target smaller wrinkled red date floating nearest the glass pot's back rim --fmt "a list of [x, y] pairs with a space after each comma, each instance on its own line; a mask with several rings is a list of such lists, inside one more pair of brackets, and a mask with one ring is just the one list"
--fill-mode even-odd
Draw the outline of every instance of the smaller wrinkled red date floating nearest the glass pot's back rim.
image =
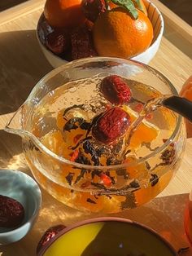
[[131, 90], [124, 80], [116, 75], [105, 77], [101, 83], [101, 92], [111, 104], [122, 105], [129, 103]]

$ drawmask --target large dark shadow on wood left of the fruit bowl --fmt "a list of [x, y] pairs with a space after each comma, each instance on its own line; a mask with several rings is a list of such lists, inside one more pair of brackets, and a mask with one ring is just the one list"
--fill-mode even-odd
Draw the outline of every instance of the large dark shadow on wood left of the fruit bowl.
[[15, 112], [52, 67], [41, 53], [34, 30], [0, 33], [0, 49], [1, 115]]

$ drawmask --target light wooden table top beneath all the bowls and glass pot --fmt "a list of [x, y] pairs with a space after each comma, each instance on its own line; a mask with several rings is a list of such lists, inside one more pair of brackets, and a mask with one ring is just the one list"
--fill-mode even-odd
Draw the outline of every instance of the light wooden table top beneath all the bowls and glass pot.
[[[168, 77], [179, 91], [192, 75], [192, 28], [158, 0], [151, 2], [164, 15], [165, 32], [150, 65]], [[9, 120], [10, 113], [24, 103], [33, 86], [52, 69], [41, 53], [35, 34], [44, 3], [44, 0], [30, 0], [0, 15], [0, 129]], [[3, 130], [0, 130], [0, 168], [23, 170], [32, 175], [24, 161], [20, 138]], [[110, 215], [130, 218], [154, 228], [175, 249], [187, 247], [183, 214], [191, 189], [192, 139], [188, 139], [181, 167], [164, 192], [137, 209]], [[37, 242], [48, 227], [59, 223], [68, 226], [89, 218], [89, 214], [69, 209], [43, 190], [42, 196], [41, 211], [31, 232], [15, 244], [0, 246], [0, 255], [33, 256]], [[192, 255], [192, 249], [183, 255]]]

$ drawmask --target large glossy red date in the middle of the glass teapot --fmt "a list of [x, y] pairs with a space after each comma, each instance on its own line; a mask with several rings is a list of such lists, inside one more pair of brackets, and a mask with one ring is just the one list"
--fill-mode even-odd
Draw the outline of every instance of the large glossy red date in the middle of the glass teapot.
[[129, 128], [130, 117], [122, 108], [115, 107], [106, 112], [95, 121], [92, 126], [92, 135], [102, 143], [111, 143], [124, 135]]

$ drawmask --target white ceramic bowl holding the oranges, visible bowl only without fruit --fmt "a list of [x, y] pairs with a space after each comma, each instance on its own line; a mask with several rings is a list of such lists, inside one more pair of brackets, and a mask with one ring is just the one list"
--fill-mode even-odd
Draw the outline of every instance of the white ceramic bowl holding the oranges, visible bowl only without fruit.
[[[146, 10], [148, 12], [148, 17], [151, 20], [151, 23], [153, 25], [154, 29], [154, 39], [151, 43], [151, 46], [146, 49], [146, 51], [142, 52], [141, 54], [133, 57], [131, 60], [137, 60], [139, 62], [142, 62], [144, 64], [148, 64], [155, 56], [159, 49], [159, 45], [164, 33], [164, 19], [163, 16], [161, 15], [160, 11], [158, 10], [157, 7], [155, 7], [155, 4], [150, 2], [149, 0], [143, 0], [145, 5], [146, 5]], [[53, 54], [51, 51], [47, 50], [46, 46], [44, 46], [40, 40], [41, 35], [40, 35], [40, 30], [39, 28], [39, 22], [41, 20], [41, 17], [38, 21], [37, 24], [37, 40], [41, 46], [41, 50], [46, 56], [46, 59], [50, 62], [50, 64], [54, 67], [57, 68], [63, 64], [68, 63], [67, 60], [61, 59], [59, 56]]]

